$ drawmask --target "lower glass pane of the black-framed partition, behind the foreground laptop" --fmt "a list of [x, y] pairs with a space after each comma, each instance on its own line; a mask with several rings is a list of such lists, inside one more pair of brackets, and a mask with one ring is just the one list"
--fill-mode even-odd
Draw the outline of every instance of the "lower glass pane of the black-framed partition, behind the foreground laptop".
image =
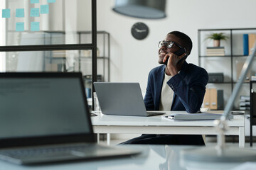
[[[92, 57], [90, 50], [53, 50], [0, 52], [6, 60], [6, 72], [82, 72], [87, 97], [92, 96]], [[0, 58], [1, 60], [1, 58]], [[97, 62], [97, 81], [106, 81], [104, 57]]]

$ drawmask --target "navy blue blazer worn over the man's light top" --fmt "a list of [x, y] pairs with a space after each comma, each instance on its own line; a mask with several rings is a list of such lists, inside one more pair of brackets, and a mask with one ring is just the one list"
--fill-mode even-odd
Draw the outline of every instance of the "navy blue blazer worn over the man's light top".
[[[165, 65], [151, 69], [144, 103], [147, 111], [159, 111], [161, 89], [164, 81]], [[181, 67], [181, 72], [167, 82], [174, 91], [171, 111], [187, 111], [196, 113], [200, 110], [203, 97], [208, 84], [208, 73], [206, 69], [186, 61]]]

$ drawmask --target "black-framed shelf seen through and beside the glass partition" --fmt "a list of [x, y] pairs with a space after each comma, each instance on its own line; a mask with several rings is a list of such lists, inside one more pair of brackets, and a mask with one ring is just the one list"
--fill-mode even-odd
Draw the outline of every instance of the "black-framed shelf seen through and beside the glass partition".
[[[58, 43], [65, 43], [65, 31], [47, 31], [48, 34], [47, 45], [52, 45], [58, 38]], [[87, 44], [91, 42], [91, 31], [78, 31], [78, 44]], [[46, 36], [45, 36], [46, 37]], [[78, 50], [75, 51], [75, 56], [70, 55], [67, 50], [53, 50], [48, 52], [43, 52], [43, 68], [44, 72], [82, 72], [83, 75], [92, 74], [92, 50]], [[74, 65], [66, 65], [66, 61], [70, 58], [75, 60]], [[97, 31], [97, 77], [100, 74], [102, 76], [102, 81], [110, 81], [110, 33], [106, 31]], [[49, 70], [47, 68], [48, 64], [58, 64], [61, 70]], [[98, 78], [97, 78], [98, 79]]]

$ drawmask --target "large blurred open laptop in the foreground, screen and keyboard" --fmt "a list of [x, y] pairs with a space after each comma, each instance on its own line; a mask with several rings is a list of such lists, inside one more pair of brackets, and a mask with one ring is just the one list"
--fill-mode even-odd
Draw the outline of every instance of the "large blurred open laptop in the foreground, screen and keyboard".
[[139, 154], [97, 145], [81, 73], [0, 73], [0, 159], [16, 164]]

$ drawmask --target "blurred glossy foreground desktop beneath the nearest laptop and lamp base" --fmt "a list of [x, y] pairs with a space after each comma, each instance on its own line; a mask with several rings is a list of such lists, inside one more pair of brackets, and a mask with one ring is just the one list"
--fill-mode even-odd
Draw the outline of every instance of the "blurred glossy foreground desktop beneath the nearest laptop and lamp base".
[[[126, 147], [128, 147], [126, 145]], [[118, 159], [104, 159], [98, 161], [87, 162], [68, 162], [60, 164], [44, 164], [35, 166], [20, 166], [11, 164], [9, 162], [0, 161], [0, 169], [8, 170], [184, 170], [184, 169], [225, 169], [230, 170], [242, 163], [231, 164], [216, 164], [216, 163], [202, 163], [202, 162], [186, 162], [181, 164], [180, 151], [181, 149], [191, 148], [191, 146], [175, 146], [175, 145], [130, 145], [142, 149], [142, 154], [134, 157], [118, 158]], [[255, 167], [256, 163], [252, 163]]]

